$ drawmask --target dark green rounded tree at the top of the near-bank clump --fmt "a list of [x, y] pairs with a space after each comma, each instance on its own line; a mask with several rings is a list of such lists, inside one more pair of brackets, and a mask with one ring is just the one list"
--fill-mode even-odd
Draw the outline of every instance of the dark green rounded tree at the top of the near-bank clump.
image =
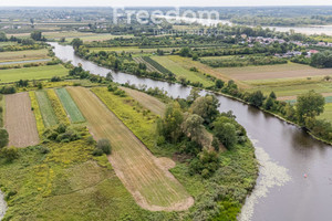
[[191, 105], [193, 114], [203, 117], [205, 124], [210, 124], [219, 114], [219, 101], [215, 95], [198, 97]]

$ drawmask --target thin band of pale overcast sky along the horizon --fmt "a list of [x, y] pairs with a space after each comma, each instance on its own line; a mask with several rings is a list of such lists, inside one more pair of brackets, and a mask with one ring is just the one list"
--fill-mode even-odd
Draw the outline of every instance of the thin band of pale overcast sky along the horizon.
[[332, 6], [332, 0], [0, 0], [0, 6], [49, 7], [227, 7], [227, 6]]

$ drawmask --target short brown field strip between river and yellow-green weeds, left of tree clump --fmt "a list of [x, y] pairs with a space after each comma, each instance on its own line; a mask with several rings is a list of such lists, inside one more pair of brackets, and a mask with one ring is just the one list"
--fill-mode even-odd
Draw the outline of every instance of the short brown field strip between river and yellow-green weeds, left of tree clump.
[[164, 115], [166, 105], [159, 99], [157, 99], [156, 97], [153, 97], [143, 92], [138, 92], [136, 90], [131, 90], [127, 87], [121, 87], [121, 88], [125, 91], [131, 97], [136, 99], [142, 106], [152, 110], [154, 114], [157, 114], [159, 116]]

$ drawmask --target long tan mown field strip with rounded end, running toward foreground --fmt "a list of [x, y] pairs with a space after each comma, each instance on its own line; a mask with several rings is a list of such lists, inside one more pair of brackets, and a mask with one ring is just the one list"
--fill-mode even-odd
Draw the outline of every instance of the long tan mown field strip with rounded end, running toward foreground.
[[87, 88], [69, 87], [96, 139], [112, 144], [108, 160], [136, 202], [152, 211], [179, 211], [194, 199], [142, 141]]

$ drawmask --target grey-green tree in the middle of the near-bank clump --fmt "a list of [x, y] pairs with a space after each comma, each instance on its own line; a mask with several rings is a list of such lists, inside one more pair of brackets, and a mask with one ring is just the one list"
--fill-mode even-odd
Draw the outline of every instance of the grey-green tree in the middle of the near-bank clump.
[[[188, 114], [188, 113], [187, 113]], [[204, 119], [196, 114], [188, 114], [183, 123], [183, 130], [191, 140], [200, 144], [204, 137]]]

